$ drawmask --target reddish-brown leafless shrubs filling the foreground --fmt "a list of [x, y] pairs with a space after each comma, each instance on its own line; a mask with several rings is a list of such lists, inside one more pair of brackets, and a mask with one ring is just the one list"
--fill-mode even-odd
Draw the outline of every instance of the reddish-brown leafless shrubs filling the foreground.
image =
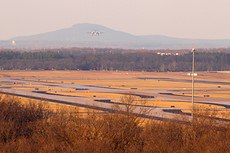
[[[132, 113], [80, 117], [42, 104], [0, 97], [0, 152], [230, 152], [230, 124], [196, 113], [192, 123], [150, 120]], [[118, 109], [114, 107], [114, 109]], [[185, 121], [187, 121], [185, 119]]]

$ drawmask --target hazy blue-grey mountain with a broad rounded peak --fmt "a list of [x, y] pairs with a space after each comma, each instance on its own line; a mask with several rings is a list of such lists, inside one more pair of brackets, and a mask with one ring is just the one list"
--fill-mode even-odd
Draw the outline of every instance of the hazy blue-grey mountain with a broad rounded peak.
[[[102, 32], [102, 34], [99, 36], [91, 35], [90, 32], [95, 30]], [[15, 41], [15, 43], [12, 43], [12, 41]], [[196, 48], [230, 47], [230, 39], [181, 39], [162, 35], [136, 36], [96, 24], [82, 23], [73, 25], [71, 28], [0, 41], [0, 48], [38, 49], [99, 47], [124, 49], [181, 49], [192, 48], [193, 43]]]

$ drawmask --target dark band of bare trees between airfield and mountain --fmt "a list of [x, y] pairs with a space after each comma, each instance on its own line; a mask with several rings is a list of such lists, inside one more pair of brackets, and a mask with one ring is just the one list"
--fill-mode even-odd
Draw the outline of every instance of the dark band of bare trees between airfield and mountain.
[[[164, 51], [162, 51], [164, 52]], [[115, 49], [0, 51], [1, 70], [123, 70], [191, 71], [192, 53], [162, 55], [151, 51]], [[196, 71], [230, 70], [229, 52], [195, 53]]]

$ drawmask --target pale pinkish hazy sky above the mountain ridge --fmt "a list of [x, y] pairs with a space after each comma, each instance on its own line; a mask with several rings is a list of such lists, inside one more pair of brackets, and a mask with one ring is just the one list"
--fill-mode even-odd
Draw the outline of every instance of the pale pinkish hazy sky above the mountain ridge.
[[230, 39], [230, 0], [0, 0], [0, 40], [78, 23], [135, 35]]

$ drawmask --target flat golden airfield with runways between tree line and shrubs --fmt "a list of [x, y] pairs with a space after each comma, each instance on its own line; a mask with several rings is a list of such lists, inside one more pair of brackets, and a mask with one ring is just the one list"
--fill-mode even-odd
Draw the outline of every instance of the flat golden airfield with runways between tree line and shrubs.
[[[195, 108], [229, 119], [229, 78], [226, 72], [198, 72]], [[145, 118], [191, 117], [191, 76], [185, 72], [0, 71], [0, 91], [97, 111], [125, 109], [124, 97], [132, 95], [134, 112], [148, 110]]]

